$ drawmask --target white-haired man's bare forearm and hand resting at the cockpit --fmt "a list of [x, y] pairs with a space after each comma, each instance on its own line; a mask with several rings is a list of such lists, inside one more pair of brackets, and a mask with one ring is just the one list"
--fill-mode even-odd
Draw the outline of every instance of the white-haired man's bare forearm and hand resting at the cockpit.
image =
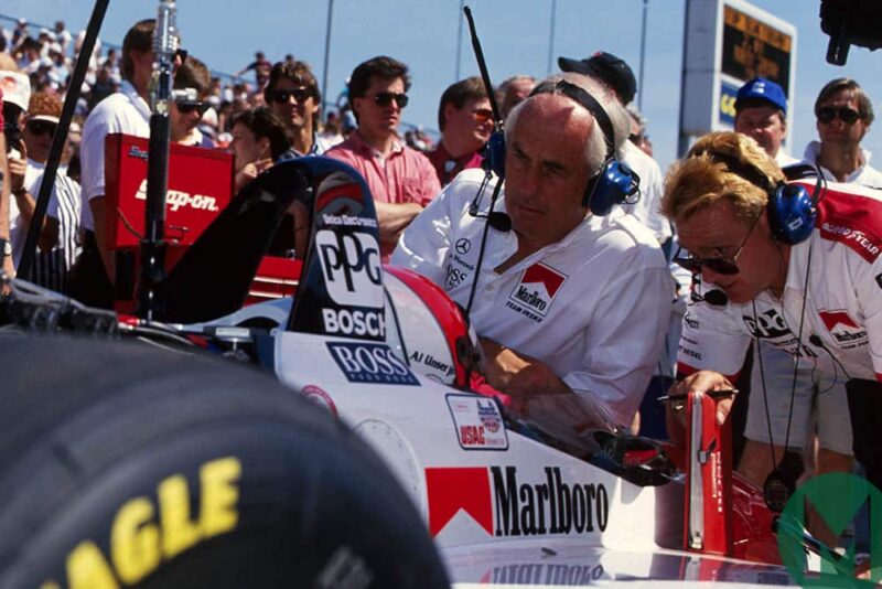
[[542, 362], [481, 338], [486, 356], [484, 376], [491, 386], [512, 397], [570, 393], [570, 387]]

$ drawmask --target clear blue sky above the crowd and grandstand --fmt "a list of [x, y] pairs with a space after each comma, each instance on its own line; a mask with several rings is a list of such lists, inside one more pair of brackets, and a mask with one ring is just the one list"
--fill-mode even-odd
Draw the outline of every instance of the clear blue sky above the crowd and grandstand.
[[[514, 74], [548, 73], [550, 0], [471, 0], [491, 76], [495, 83]], [[767, 12], [793, 23], [797, 32], [793, 149], [816, 138], [813, 104], [832, 79], [854, 77], [875, 105], [882, 96], [882, 52], [852, 47], [849, 63], [825, 62], [828, 38], [820, 32], [818, 0], [754, 0]], [[335, 97], [352, 68], [368, 57], [388, 54], [411, 68], [413, 87], [405, 119], [437, 127], [438, 98], [456, 72], [459, 0], [335, 0], [329, 94]], [[584, 57], [599, 50], [627, 61], [638, 73], [643, 0], [558, 0], [552, 53]], [[126, 30], [154, 17], [157, 0], [111, 0], [101, 39], [121, 43]], [[676, 158], [682, 61], [685, 0], [648, 0], [648, 33], [643, 111], [656, 159], [667, 167]], [[76, 32], [92, 11], [86, 0], [4, 0], [0, 13], [52, 24], [66, 21]], [[179, 0], [183, 44], [212, 69], [234, 73], [262, 50], [270, 60], [286, 53], [312, 64], [322, 79], [327, 0]], [[467, 31], [463, 30], [461, 77], [477, 74]], [[882, 116], [882, 113], [879, 113]], [[870, 129], [864, 147], [882, 168], [882, 127]]]

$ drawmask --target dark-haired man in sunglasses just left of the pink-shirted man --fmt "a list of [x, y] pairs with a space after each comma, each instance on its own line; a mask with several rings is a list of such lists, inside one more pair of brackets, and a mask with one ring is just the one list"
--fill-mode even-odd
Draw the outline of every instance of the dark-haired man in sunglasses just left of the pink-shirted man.
[[288, 127], [291, 149], [280, 160], [321, 156], [331, 147], [319, 136], [322, 94], [306, 62], [279, 62], [263, 89], [269, 109]]

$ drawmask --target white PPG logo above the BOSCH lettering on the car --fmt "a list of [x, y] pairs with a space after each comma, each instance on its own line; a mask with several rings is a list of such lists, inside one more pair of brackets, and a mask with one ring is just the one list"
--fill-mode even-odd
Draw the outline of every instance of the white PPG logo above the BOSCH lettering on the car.
[[337, 304], [383, 308], [379, 245], [362, 232], [315, 235], [327, 292]]

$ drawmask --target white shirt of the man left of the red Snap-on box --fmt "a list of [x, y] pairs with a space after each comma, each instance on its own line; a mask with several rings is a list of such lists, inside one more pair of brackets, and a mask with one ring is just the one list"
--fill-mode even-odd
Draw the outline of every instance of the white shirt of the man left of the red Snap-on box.
[[105, 193], [104, 140], [108, 133], [150, 137], [150, 107], [126, 79], [118, 93], [98, 103], [83, 127], [79, 144], [83, 208], [79, 225], [84, 229], [95, 229], [89, 201]]

